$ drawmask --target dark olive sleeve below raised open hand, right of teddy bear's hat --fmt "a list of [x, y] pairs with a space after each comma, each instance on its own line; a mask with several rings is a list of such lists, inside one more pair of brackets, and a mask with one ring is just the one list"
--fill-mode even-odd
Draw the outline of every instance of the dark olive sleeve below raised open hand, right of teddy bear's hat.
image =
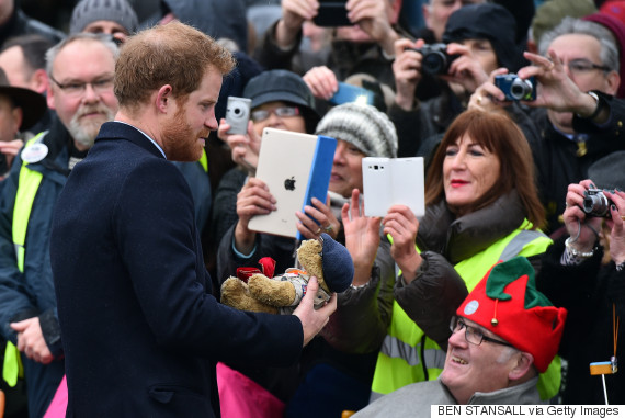
[[364, 286], [348, 287], [339, 294], [321, 336], [333, 348], [354, 353], [379, 350], [393, 310], [395, 262], [388, 240], [382, 239], [370, 281]]

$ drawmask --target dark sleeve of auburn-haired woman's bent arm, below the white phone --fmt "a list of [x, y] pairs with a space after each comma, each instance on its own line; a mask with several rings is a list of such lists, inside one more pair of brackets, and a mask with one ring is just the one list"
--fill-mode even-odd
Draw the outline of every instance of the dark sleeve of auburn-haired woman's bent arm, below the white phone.
[[450, 321], [468, 294], [464, 280], [438, 252], [421, 253], [423, 264], [410, 284], [399, 280], [395, 297], [406, 314], [442, 348], [447, 347]]

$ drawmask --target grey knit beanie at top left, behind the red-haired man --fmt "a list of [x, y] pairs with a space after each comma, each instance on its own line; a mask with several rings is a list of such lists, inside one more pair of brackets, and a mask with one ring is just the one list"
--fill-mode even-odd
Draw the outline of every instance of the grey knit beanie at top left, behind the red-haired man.
[[81, 0], [73, 8], [69, 21], [69, 33], [82, 32], [95, 21], [112, 21], [124, 26], [132, 34], [137, 30], [137, 13], [126, 0]]

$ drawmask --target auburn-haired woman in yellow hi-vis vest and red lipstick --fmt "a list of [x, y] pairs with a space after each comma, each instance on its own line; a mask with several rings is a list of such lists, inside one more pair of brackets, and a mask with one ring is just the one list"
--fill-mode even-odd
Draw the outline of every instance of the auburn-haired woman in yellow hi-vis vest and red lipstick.
[[[545, 215], [531, 149], [502, 114], [467, 111], [454, 121], [430, 163], [425, 205], [420, 221], [405, 206], [383, 219], [401, 274], [372, 400], [435, 380], [445, 364], [451, 317], [467, 289], [499, 260], [525, 256], [537, 267], [539, 257], [533, 256], [552, 242], [537, 229]], [[541, 376], [542, 396], [555, 396], [559, 383], [557, 359]]]

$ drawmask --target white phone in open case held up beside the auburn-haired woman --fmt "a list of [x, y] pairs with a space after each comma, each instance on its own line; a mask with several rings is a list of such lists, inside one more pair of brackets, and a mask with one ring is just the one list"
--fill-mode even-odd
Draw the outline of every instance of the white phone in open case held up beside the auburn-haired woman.
[[393, 205], [406, 205], [417, 217], [425, 214], [422, 157], [365, 157], [362, 169], [367, 216], [384, 217]]

